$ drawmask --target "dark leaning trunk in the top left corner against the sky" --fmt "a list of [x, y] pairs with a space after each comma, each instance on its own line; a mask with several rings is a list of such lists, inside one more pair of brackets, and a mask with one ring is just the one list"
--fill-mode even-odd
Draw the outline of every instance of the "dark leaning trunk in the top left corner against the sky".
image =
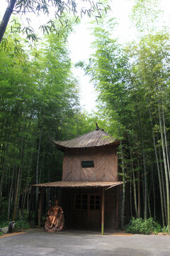
[[15, 6], [15, 4], [16, 4], [16, 0], [9, 1], [4, 17], [2, 18], [2, 21], [0, 24], [0, 43], [6, 31], [6, 26], [8, 25], [8, 21], [9, 21], [9, 18], [11, 17], [11, 14], [13, 12], [13, 7]]

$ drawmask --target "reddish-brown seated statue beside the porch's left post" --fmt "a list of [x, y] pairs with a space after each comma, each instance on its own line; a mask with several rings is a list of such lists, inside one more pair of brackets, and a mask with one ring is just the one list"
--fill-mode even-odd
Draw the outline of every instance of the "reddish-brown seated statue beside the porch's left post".
[[55, 233], [61, 231], [64, 227], [64, 213], [58, 205], [58, 200], [55, 200], [55, 206], [50, 207], [47, 212], [45, 231]]

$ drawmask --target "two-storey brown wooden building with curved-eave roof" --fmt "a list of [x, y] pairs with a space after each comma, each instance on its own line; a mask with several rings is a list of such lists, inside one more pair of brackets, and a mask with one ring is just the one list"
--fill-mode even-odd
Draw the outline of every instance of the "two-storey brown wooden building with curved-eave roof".
[[[92, 132], [66, 141], [55, 141], [64, 152], [62, 181], [41, 183], [41, 188], [62, 188], [65, 226], [118, 228], [120, 185], [118, 140], [98, 126]], [[40, 216], [40, 211], [39, 211]]]

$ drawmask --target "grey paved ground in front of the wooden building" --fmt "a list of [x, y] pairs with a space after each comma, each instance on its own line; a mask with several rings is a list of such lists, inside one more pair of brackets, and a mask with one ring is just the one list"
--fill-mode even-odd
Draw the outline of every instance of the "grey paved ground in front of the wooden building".
[[24, 233], [0, 238], [1, 256], [170, 256], [170, 236]]

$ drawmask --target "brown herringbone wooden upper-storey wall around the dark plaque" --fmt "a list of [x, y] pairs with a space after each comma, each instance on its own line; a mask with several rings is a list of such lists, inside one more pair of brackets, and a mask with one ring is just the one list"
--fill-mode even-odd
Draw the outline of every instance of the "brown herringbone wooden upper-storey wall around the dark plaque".
[[[94, 161], [94, 167], [82, 168], [81, 161]], [[118, 181], [115, 147], [67, 149], [64, 152], [62, 181]]]

